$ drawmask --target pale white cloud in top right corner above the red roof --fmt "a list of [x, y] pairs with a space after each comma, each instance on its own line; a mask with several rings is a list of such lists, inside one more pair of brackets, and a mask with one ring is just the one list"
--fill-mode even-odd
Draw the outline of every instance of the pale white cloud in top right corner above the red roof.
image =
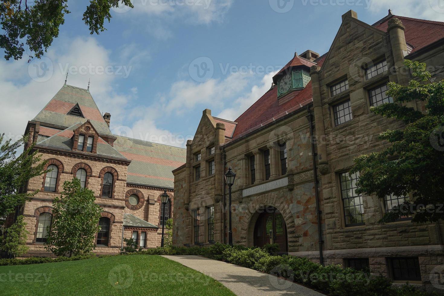
[[369, 10], [380, 14], [392, 9], [394, 15], [416, 19], [444, 21], [442, 0], [371, 0]]

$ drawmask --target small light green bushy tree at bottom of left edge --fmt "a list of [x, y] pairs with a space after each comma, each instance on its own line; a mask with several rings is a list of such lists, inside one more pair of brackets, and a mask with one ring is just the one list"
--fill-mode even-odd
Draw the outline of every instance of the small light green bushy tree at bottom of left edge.
[[6, 229], [6, 237], [3, 241], [2, 250], [14, 258], [28, 252], [26, 245], [29, 231], [26, 230], [26, 223], [23, 215], [17, 217], [16, 222]]

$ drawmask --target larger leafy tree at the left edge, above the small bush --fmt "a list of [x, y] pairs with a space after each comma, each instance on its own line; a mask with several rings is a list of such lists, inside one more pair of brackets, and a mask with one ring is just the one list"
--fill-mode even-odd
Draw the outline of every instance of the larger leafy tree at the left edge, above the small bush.
[[[29, 179], [40, 176], [46, 171], [44, 166], [47, 161], [41, 161], [41, 154], [32, 151], [34, 144], [16, 157], [16, 150], [28, 142], [28, 137], [21, 138], [15, 143], [11, 139], [4, 141], [4, 134], [0, 135], [0, 217], [12, 213], [14, 209], [23, 205], [28, 197], [35, 195], [39, 190], [32, 193], [20, 193], [20, 188]], [[3, 143], [3, 144], [2, 144]], [[2, 220], [2, 219], [0, 219]]]

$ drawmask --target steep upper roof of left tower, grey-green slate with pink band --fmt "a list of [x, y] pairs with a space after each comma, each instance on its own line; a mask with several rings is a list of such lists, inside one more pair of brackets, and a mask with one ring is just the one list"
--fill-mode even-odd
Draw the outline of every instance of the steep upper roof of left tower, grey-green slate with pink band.
[[[85, 118], [67, 115], [76, 104], [79, 104], [80, 111]], [[112, 136], [111, 130], [89, 91], [84, 88], [64, 85], [32, 120], [66, 128], [77, 122], [84, 123], [88, 119], [99, 134]]]

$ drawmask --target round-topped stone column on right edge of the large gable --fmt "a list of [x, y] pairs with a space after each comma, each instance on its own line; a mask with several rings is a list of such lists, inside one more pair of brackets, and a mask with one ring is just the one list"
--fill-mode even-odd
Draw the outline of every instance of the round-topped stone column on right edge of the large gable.
[[[408, 85], [410, 81], [410, 71], [404, 66], [404, 57], [407, 55], [407, 43], [405, 42], [405, 27], [400, 19], [393, 17], [389, 20], [387, 30], [392, 44], [393, 61], [396, 70], [396, 78], [399, 84]], [[408, 102], [407, 107], [413, 107], [416, 110], [415, 102]]]

